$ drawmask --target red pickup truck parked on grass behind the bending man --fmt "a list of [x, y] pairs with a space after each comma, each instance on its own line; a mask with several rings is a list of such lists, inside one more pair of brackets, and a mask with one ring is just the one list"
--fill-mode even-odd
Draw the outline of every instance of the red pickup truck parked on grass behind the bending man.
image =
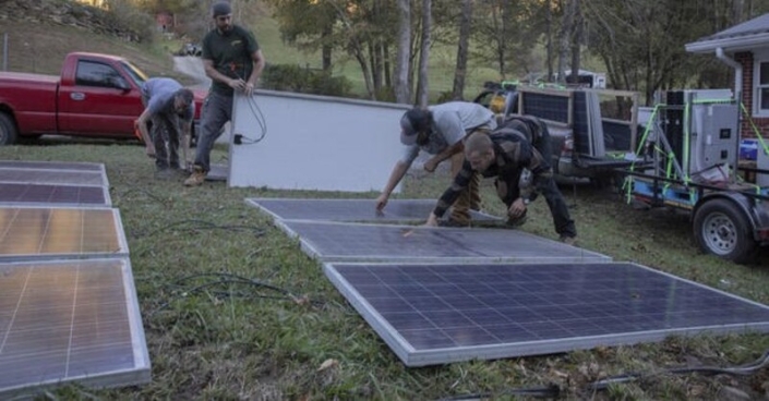
[[[61, 76], [0, 72], [0, 145], [44, 134], [134, 137], [146, 80], [123, 58], [86, 52], [68, 54]], [[206, 94], [193, 92], [197, 121]]]

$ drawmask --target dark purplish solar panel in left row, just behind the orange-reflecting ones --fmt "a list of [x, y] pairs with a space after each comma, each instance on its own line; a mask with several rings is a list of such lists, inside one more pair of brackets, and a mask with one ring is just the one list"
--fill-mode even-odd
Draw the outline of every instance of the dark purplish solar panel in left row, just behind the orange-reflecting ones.
[[105, 186], [51, 185], [0, 182], [0, 203], [109, 206]]

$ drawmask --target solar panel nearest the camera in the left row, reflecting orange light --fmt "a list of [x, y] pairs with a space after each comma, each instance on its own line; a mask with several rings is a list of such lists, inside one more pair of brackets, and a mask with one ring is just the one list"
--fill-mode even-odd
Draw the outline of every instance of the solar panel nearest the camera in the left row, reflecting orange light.
[[0, 399], [149, 378], [128, 259], [0, 264]]

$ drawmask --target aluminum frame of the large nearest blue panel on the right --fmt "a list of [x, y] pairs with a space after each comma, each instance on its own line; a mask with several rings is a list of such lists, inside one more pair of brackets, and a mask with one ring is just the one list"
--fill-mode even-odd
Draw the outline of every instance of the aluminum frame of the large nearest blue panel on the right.
[[[360, 263], [324, 263], [323, 270], [334, 287], [345, 296], [345, 299], [356, 308], [358, 314], [374, 329], [374, 331], [385, 341], [398, 359], [408, 367], [419, 367], [445, 364], [452, 362], [462, 362], [470, 360], [500, 360], [506, 357], [519, 357], [530, 355], [543, 355], [569, 352], [574, 350], [589, 350], [596, 347], [630, 345], [640, 342], [660, 342], [669, 336], [694, 336], [700, 333], [724, 335], [735, 331], [761, 331], [769, 332], [769, 321], [761, 324], [737, 324], [722, 325], [717, 327], [692, 327], [687, 329], [648, 330], [642, 332], [621, 333], [615, 336], [591, 336], [578, 338], [553, 339], [544, 341], [528, 341], [520, 343], [501, 343], [494, 345], [444, 348], [429, 351], [418, 351], [406, 341], [380, 313], [368, 303], [358, 291], [336, 270], [336, 266], [360, 266]], [[367, 266], [398, 266], [392, 263], [367, 263]], [[409, 264], [423, 266], [442, 266], [442, 264]], [[658, 271], [649, 267], [634, 265], [638, 268], [653, 271], [666, 276], [673, 280], [680, 280], [693, 285], [714, 291], [724, 296], [769, 309], [766, 305], [730, 294], [690, 280], [686, 280], [663, 271]], [[447, 265], [443, 265], [447, 266]]]

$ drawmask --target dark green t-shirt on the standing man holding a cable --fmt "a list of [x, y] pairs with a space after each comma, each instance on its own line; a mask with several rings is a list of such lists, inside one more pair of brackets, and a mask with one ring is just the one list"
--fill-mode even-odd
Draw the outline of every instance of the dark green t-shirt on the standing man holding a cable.
[[[223, 35], [217, 29], [209, 32], [203, 38], [203, 59], [212, 60], [219, 73], [231, 78], [249, 80], [253, 70], [251, 54], [259, 50], [259, 44], [251, 32], [232, 25], [232, 31]], [[227, 84], [214, 81], [211, 90], [232, 96], [232, 88]]]

